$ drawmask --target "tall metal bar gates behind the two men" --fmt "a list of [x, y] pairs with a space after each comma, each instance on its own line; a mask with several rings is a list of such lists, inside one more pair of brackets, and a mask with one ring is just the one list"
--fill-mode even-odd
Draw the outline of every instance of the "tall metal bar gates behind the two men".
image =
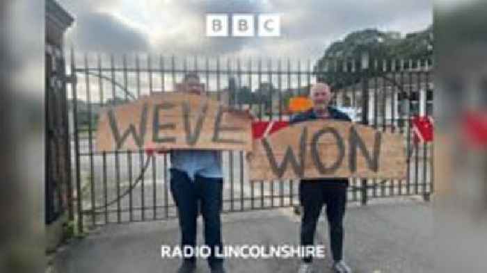
[[[405, 180], [351, 179], [349, 200], [404, 195], [429, 198], [433, 144], [413, 141], [410, 117], [431, 115], [429, 60], [246, 60], [175, 56], [70, 55], [69, 115], [73, 187], [79, 229], [107, 223], [176, 217], [168, 190], [168, 155], [144, 151], [95, 151], [99, 110], [154, 92], [174, 90], [184, 74], [197, 73], [210, 97], [248, 108], [260, 120], [287, 120], [290, 98], [305, 96], [317, 81], [332, 86], [333, 104], [355, 122], [406, 136]], [[372, 56], [373, 57], [373, 56]], [[78, 65], [81, 63], [81, 65]], [[298, 205], [298, 181], [256, 181], [244, 172], [243, 151], [223, 152], [225, 213]], [[251, 172], [251, 170], [250, 170]]]

